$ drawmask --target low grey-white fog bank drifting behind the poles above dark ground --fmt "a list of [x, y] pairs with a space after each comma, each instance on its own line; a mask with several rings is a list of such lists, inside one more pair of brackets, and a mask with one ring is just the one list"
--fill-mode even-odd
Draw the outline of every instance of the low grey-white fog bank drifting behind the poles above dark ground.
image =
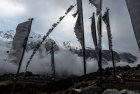
[[[0, 42], [0, 74], [4, 73], [16, 73], [17, 65], [12, 63], [7, 63], [6, 59], [8, 53], [6, 53], [10, 49], [10, 43], [7, 41]], [[38, 74], [50, 74], [51, 71], [51, 56], [47, 54], [45, 48], [41, 47], [42, 53], [37, 52], [32, 59], [28, 71]], [[32, 50], [26, 51], [24, 55], [24, 59], [21, 66], [21, 72], [24, 72], [25, 66], [29, 57], [32, 53]], [[116, 66], [137, 66], [139, 64], [140, 59], [138, 58], [137, 62], [134, 64], [128, 64], [127, 62], [118, 62]], [[98, 69], [98, 64], [96, 59], [87, 59], [87, 73], [95, 72]], [[108, 64], [103, 64], [103, 68], [112, 67], [112, 62], [108, 62]], [[59, 51], [55, 52], [55, 68], [56, 73], [59, 75], [67, 74], [67, 75], [83, 75], [83, 58], [79, 57], [77, 54], [70, 52], [68, 49], [64, 47], [60, 47]]]

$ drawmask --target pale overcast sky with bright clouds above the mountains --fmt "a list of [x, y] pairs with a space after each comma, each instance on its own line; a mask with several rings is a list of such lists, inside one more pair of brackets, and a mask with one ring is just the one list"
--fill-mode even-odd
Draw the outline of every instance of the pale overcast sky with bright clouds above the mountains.
[[[51, 25], [65, 14], [66, 9], [76, 3], [76, 0], [0, 0], [0, 31], [15, 30], [18, 23], [33, 17], [32, 32], [44, 35]], [[125, 0], [103, 0], [103, 13], [110, 9], [110, 22], [113, 35], [113, 48], [119, 52], [138, 53], [130, 17]], [[57, 43], [70, 41], [80, 45], [74, 34], [76, 18], [72, 17], [76, 7], [66, 16], [50, 35]], [[88, 0], [83, 0], [86, 46], [92, 47], [90, 17], [95, 7]], [[105, 25], [103, 25], [103, 49], [108, 49]]]

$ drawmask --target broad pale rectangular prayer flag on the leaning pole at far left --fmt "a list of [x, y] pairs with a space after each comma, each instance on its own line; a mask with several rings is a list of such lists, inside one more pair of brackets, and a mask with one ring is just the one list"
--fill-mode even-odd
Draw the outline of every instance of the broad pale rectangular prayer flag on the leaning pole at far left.
[[23, 46], [25, 40], [28, 38], [30, 33], [31, 21], [26, 21], [18, 24], [16, 28], [16, 34], [13, 39], [12, 48], [10, 49], [8, 62], [18, 64], [23, 52]]

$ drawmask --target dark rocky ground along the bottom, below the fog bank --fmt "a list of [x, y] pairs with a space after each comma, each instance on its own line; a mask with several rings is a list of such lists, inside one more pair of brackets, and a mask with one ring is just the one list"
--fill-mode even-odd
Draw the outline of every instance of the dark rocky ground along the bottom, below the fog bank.
[[[84, 82], [83, 76], [57, 77], [54, 81], [50, 76], [32, 74], [31, 72], [27, 72], [25, 79], [23, 79], [23, 73], [20, 73], [15, 94], [52, 94], [52, 92], [53, 94], [78, 94], [74, 92], [86, 92], [88, 90], [97, 91], [98, 94], [101, 94], [108, 88], [140, 90], [140, 65], [133, 68], [124, 66], [116, 69], [117, 78], [115, 80], [112, 76], [112, 68], [103, 70], [102, 89], [98, 86], [98, 71], [88, 74], [86, 82]], [[0, 76], [0, 94], [10, 94], [14, 77], [14, 74]]]

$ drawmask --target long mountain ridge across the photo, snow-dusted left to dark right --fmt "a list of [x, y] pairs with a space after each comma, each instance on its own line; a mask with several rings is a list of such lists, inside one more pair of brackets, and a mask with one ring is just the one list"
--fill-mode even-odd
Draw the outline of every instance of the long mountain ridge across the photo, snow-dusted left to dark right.
[[[13, 41], [13, 37], [14, 37], [15, 32], [13, 30], [10, 31], [0, 31], [0, 39], [3, 41], [9, 41], [8, 43], [11, 44]], [[40, 43], [40, 41], [42, 40], [42, 36], [40, 34], [36, 34], [34, 32], [30, 33], [29, 36], [29, 41], [28, 41], [28, 45], [27, 45], [27, 50], [26, 51], [30, 51], [33, 50], [38, 43]], [[45, 48], [46, 52], [50, 51], [51, 49], [51, 41], [53, 41], [52, 39], [47, 39], [45, 41], [45, 43], [39, 48], [39, 52], [41, 53], [42, 50]], [[64, 42], [65, 44], [63, 44], [63, 48], [68, 49], [69, 51], [71, 51], [74, 54], [77, 54], [79, 57], [82, 57], [82, 50], [81, 49], [76, 49], [75, 47], [72, 47], [70, 45], [70, 43]], [[10, 50], [10, 49], [9, 49]], [[55, 43], [55, 51], [59, 50], [59, 45], [57, 45]], [[109, 50], [103, 50], [102, 51], [102, 56], [106, 61], [111, 61], [111, 53]], [[127, 52], [113, 52], [114, 53], [114, 59], [116, 62], [128, 62], [128, 63], [134, 63], [137, 61], [137, 57], [132, 55], [131, 53], [127, 53]], [[86, 49], [86, 59], [96, 59], [97, 55], [95, 50], [93, 49]]]

